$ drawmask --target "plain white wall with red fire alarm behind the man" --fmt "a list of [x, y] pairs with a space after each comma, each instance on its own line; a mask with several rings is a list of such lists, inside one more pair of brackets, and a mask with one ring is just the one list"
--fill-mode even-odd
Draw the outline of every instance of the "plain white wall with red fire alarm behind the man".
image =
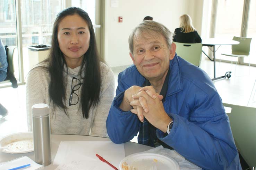
[[[145, 16], [165, 25], [170, 31], [179, 27], [179, 17], [189, 14], [198, 33], [202, 27], [203, 0], [118, 0], [118, 8], [105, 1], [105, 52], [110, 67], [132, 64], [129, 56], [128, 37]], [[123, 22], [118, 22], [118, 17]]]

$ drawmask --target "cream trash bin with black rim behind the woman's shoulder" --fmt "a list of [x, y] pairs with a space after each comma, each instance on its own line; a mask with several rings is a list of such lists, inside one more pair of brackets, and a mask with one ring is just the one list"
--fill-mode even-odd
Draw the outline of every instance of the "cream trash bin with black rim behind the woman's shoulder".
[[28, 48], [28, 65], [31, 69], [36, 64], [42, 62], [48, 57], [50, 45], [36, 45], [36, 46], [27, 46]]

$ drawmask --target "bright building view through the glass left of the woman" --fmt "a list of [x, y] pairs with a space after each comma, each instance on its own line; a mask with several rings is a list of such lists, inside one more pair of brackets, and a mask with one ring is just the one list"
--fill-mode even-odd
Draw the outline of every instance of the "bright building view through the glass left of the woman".
[[[56, 15], [62, 10], [62, 0], [20, 0], [24, 76], [29, 71], [27, 46], [51, 43], [52, 26]], [[0, 37], [3, 44], [17, 47], [15, 0], [0, 1]], [[17, 48], [14, 65], [18, 67]], [[15, 69], [15, 77], [19, 70]]]

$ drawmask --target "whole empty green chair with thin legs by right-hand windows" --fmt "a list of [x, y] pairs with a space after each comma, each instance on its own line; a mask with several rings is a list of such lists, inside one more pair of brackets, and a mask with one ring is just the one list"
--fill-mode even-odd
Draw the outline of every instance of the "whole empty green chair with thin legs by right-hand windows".
[[[244, 38], [244, 37], [233, 37], [233, 40], [239, 41], [239, 44], [232, 45], [232, 51], [231, 53], [222, 53], [221, 55], [229, 56], [229, 57], [249, 57], [250, 54], [250, 44], [251, 44], [251, 38]], [[233, 64], [233, 61], [231, 61], [231, 64]], [[237, 62], [236, 62], [236, 68], [237, 68]], [[235, 68], [235, 73], [236, 73]], [[250, 57], [249, 57], [249, 68], [250, 68]]]

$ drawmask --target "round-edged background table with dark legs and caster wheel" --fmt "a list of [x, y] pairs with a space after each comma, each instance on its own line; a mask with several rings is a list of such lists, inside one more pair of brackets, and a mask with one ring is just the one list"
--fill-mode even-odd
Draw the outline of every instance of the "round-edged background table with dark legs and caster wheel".
[[[224, 77], [227, 76], [225, 74], [224, 76], [216, 77], [216, 73], [215, 73], [215, 45], [221, 46], [221, 45], [235, 45], [235, 44], [239, 44], [239, 41], [234, 41], [234, 40], [229, 40], [229, 39], [224, 39], [224, 38], [208, 38], [208, 39], [203, 39], [202, 40], [202, 46], [213, 47], [213, 60], [207, 54], [205, 54], [205, 52], [203, 51], [203, 53], [211, 61], [213, 61], [213, 78], [212, 78], [212, 81], [220, 79], [220, 78], [224, 78]], [[227, 73], [230, 74], [231, 72], [227, 72]]]

